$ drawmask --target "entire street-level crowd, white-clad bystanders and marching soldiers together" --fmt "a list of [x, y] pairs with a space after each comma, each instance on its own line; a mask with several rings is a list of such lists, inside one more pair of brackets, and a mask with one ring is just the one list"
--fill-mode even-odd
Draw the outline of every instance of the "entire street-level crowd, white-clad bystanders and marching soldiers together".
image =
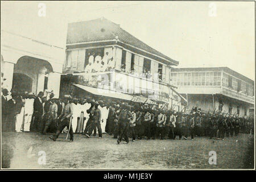
[[254, 118], [242, 118], [219, 112], [202, 113], [194, 108], [191, 113], [159, 108], [135, 102], [121, 102], [97, 97], [72, 98], [65, 95], [55, 98], [43, 92], [38, 96], [11, 93], [2, 90], [2, 131], [35, 131], [42, 134], [54, 133], [56, 140], [60, 133], [73, 133], [90, 138], [102, 133], [113, 135], [120, 143], [138, 139], [194, 139], [209, 137], [224, 139], [239, 133], [254, 134]]

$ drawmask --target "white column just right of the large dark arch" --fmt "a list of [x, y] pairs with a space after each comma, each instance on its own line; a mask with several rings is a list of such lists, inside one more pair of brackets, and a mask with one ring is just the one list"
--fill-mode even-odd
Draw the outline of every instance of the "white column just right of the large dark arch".
[[47, 88], [49, 91], [53, 90], [56, 98], [59, 98], [60, 94], [60, 73], [51, 72], [48, 76]]

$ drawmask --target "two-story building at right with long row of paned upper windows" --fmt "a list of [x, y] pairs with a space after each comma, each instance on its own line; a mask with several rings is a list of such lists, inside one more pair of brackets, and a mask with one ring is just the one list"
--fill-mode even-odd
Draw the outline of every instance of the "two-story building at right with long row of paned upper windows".
[[254, 114], [254, 81], [227, 67], [172, 68], [171, 84], [193, 106], [240, 116]]

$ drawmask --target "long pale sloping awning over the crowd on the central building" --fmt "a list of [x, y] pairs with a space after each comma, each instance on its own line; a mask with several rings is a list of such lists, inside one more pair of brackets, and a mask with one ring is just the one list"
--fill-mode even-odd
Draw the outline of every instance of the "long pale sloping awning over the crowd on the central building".
[[97, 96], [118, 98], [118, 99], [121, 99], [121, 100], [140, 102], [140, 103], [144, 103], [144, 104], [150, 104], [151, 103], [151, 101], [148, 100], [147, 97], [144, 97], [142, 95], [133, 96], [133, 95], [130, 95], [130, 94], [116, 92], [116, 91], [108, 90], [108, 89], [93, 88], [93, 87], [90, 87], [90, 86], [79, 85], [79, 84], [73, 84], [73, 85], [77, 86], [80, 89], [85, 90], [86, 92], [92, 93], [92, 94], [97, 95]]

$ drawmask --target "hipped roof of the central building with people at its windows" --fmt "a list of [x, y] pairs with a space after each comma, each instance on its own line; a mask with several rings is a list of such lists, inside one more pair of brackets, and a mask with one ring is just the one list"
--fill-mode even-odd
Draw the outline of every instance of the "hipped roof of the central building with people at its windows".
[[127, 31], [123, 30], [119, 24], [113, 23], [108, 19], [99, 18], [85, 22], [74, 22], [68, 24], [67, 45], [88, 43], [88, 42], [107, 42], [118, 38], [118, 42], [128, 44], [137, 49], [142, 49], [152, 55], [167, 60], [171, 65], [178, 65], [175, 61], [156, 49], [143, 43]]

